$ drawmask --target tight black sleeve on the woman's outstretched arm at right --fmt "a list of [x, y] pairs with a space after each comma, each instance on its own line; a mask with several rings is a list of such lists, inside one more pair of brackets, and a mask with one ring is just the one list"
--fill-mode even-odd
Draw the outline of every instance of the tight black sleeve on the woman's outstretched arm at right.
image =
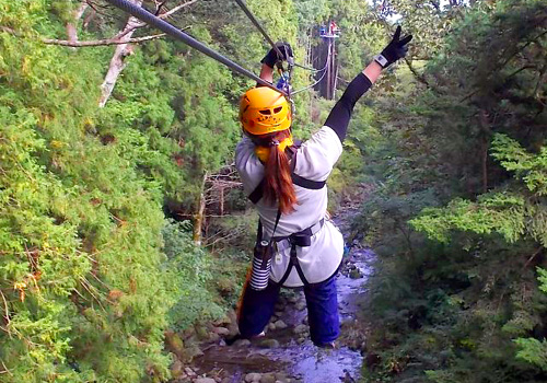
[[362, 72], [359, 73], [348, 85], [342, 96], [330, 111], [325, 125], [336, 131], [340, 141], [346, 138], [349, 119], [353, 106], [361, 96], [372, 86], [371, 80]]

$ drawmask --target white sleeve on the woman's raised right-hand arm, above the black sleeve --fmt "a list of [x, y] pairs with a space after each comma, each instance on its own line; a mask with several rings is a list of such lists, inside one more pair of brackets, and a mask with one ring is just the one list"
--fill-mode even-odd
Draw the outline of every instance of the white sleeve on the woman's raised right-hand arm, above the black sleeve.
[[311, 181], [325, 181], [341, 152], [340, 139], [331, 128], [324, 126], [299, 149], [294, 173]]

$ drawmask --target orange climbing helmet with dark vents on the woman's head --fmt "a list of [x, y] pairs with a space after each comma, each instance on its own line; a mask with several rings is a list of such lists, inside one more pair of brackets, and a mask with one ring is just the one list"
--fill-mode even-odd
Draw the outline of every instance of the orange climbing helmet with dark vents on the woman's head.
[[249, 89], [240, 103], [240, 120], [246, 132], [255, 136], [291, 127], [291, 107], [279, 92], [259, 86]]

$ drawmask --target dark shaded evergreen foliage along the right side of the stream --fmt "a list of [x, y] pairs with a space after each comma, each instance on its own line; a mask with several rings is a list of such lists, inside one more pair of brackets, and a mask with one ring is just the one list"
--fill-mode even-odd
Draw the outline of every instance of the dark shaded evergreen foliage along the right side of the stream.
[[[405, 25], [424, 2], [389, 4]], [[421, 10], [440, 18], [423, 33], [439, 38], [415, 48], [430, 59], [393, 100], [377, 98], [386, 140], [368, 161], [373, 185], [354, 225], [379, 254], [371, 381], [545, 380], [547, 299], [533, 267], [546, 262], [546, 10]]]

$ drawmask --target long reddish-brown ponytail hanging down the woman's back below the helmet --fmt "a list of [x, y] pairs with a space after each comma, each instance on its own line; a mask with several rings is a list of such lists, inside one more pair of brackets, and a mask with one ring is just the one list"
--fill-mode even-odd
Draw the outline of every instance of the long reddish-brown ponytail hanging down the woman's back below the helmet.
[[272, 144], [271, 142], [282, 142], [290, 136], [289, 130], [282, 130], [268, 135], [268, 137], [260, 137], [260, 142], [257, 142], [260, 146], [268, 144], [270, 147], [268, 161], [265, 163], [266, 185], [264, 187], [264, 199], [269, 204], [278, 202], [279, 210], [283, 214], [294, 211], [294, 205], [298, 202], [296, 193], [292, 184], [289, 158], [284, 151], [280, 150], [279, 144]]

